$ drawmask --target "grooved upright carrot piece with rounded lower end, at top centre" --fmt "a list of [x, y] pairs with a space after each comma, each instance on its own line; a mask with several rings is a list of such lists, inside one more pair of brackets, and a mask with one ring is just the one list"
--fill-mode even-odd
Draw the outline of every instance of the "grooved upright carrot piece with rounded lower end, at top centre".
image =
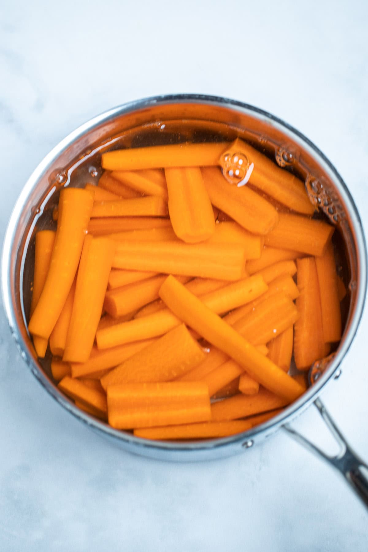
[[166, 168], [169, 215], [175, 234], [187, 243], [208, 240], [215, 218], [199, 167]]

